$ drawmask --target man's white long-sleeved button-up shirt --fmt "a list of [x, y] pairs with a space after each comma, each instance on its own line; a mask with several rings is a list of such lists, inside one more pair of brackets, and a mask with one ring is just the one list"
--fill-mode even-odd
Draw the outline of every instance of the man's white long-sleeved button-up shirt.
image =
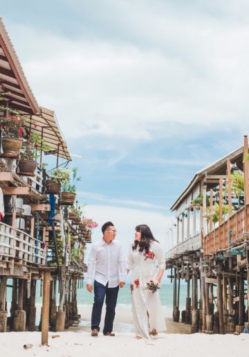
[[93, 243], [89, 255], [86, 284], [91, 284], [95, 270], [95, 280], [109, 288], [116, 288], [119, 281], [125, 281], [125, 262], [119, 241], [110, 244], [101, 241]]

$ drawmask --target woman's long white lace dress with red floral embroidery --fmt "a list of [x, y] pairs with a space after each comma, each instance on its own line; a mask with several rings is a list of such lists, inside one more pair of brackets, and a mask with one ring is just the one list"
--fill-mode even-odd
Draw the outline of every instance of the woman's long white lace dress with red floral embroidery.
[[158, 289], [156, 293], [145, 288], [149, 279], [155, 279], [158, 269], [165, 269], [165, 257], [160, 244], [150, 243], [149, 255], [129, 248], [127, 269], [131, 270], [131, 304], [136, 336], [150, 338], [149, 331], [165, 331], [165, 317], [160, 304]]

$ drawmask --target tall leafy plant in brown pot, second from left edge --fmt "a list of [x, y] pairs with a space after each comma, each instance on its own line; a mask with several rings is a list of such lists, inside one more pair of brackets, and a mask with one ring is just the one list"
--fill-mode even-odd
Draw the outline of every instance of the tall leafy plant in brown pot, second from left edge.
[[37, 132], [31, 132], [21, 148], [21, 159], [18, 163], [19, 175], [33, 176], [37, 167], [37, 158], [40, 151], [49, 150]]

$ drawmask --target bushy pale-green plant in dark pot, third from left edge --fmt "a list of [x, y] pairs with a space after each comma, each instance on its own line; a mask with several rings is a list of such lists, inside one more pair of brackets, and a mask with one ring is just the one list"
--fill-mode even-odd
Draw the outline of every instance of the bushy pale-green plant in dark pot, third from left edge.
[[68, 183], [70, 178], [71, 173], [68, 168], [55, 168], [45, 182], [46, 193], [58, 194], [62, 184]]

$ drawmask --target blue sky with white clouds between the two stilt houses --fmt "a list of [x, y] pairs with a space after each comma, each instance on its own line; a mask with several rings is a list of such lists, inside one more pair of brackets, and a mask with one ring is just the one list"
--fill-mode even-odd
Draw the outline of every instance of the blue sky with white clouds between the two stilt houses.
[[243, 144], [248, 10], [246, 0], [0, 0], [35, 98], [81, 156], [77, 200], [100, 226], [113, 221], [124, 250], [142, 223], [167, 250], [178, 195]]

